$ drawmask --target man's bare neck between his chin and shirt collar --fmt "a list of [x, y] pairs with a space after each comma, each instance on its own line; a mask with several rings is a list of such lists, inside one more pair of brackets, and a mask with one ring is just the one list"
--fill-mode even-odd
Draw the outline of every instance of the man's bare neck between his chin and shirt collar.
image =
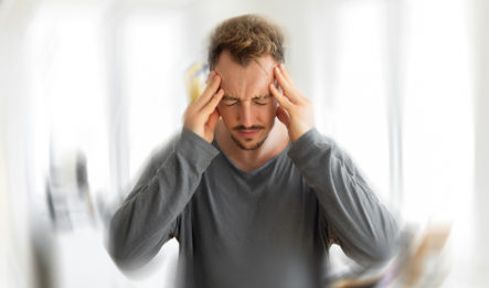
[[222, 120], [216, 125], [215, 140], [224, 154], [237, 168], [245, 171], [263, 166], [266, 161], [284, 151], [289, 143], [287, 128], [278, 120], [275, 121], [265, 142], [255, 150], [244, 150], [240, 148], [231, 138], [231, 134]]

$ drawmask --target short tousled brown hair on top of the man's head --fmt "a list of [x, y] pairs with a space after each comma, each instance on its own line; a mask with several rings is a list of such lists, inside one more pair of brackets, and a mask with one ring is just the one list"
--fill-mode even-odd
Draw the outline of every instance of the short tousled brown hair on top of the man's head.
[[284, 34], [279, 26], [256, 14], [231, 18], [211, 34], [208, 55], [211, 70], [224, 50], [243, 66], [268, 54], [284, 62]]

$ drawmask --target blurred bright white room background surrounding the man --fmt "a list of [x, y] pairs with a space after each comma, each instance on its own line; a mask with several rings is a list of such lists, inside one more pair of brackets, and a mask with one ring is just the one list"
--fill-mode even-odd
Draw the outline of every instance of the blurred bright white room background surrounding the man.
[[486, 0], [0, 0], [0, 287], [172, 287], [176, 241], [127, 277], [105, 228], [212, 28], [252, 12], [411, 233], [400, 287], [487, 287]]

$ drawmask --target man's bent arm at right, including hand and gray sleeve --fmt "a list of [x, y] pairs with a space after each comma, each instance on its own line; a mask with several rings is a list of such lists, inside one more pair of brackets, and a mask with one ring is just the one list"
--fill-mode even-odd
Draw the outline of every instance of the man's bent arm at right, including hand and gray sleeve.
[[389, 258], [398, 242], [393, 216], [357, 171], [350, 158], [315, 128], [312, 103], [294, 85], [283, 64], [274, 68], [269, 89], [278, 102], [278, 119], [294, 142], [289, 157], [316, 192], [321, 220], [347, 255], [362, 265]]

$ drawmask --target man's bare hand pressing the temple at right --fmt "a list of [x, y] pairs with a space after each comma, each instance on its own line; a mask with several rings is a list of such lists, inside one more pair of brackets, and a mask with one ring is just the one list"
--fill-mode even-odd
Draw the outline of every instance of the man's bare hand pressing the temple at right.
[[274, 84], [269, 86], [272, 95], [279, 104], [277, 118], [287, 126], [290, 140], [295, 142], [315, 127], [312, 103], [295, 87], [284, 64], [274, 68], [274, 75], [281, 87], [280, 92]]

